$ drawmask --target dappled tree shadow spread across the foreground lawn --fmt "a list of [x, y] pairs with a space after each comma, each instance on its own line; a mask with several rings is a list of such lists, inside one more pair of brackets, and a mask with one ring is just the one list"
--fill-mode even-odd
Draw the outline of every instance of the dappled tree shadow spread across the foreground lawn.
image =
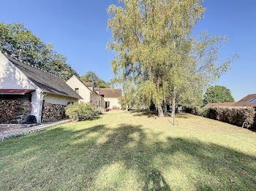
[[[177, 186], [170, 181], [176, 182], [176, 176], [181, 175], [187, 177], [184, 180], [189, 182], [187, 184], [193, 190], [255, 189], [255, 157], [195, 139], [167, 137], [162, 140], [159, 139], [160, 134], [151, 132], [150, 135], [154, 137], [152, 139], [148, 137], [146, 130], [140, 125], [129, 124], [120, 124], [115, 128], [95, 125], [80, 130], [60, 126], [42, 133], [31, 134], [26, 140], [23, 138], [9, 140], [7, 144], [0, 145], [0, 150], [5, 151], [4, 155], [0, 154], [0, 159], [5, 155], [13, 155], [8, 148], [15, 147], [14, 157], [21, 155], [19, 152], [25, 151], [26, 154], [22, 155], [23, 160], [28, 158], [26, 165], [17, 162], [17, 166], [12, 166], [12, 169], [18, 170], [14, 170], [15, 173], [8, 179], [13, 180], [12, 185], [31, 184], [31, 187], [40, 185], [45, 190], [54, 187], [61, 190], [64, 186], [62, 183], [69, 182], [70, 179], [73, 182], [69, 182], [68, 186], [65, 185], [66, 190], [72, 190], [74, 187], [78, 190], [120, 190], [125, 181], [116, 180], [118, 178], [106, 179], [105, 182], [114, 183], [101, 185], [101, 189], [98, 185], [101, 179], [104, 179], [99, 177], [100, 171], [116, 163], [121, 163], [124, 165], [122, 168], [135, 173], [134, 178], [138, 182], [136, 190], [182, 190], [184, 187], [189, 189], [183, 186], [184, 182], [179, 182], [180, 185]], [[181, 159], [177, 159], [177, 156]], [[17, 160], [20, 158], [18, 157]], [[10, 166], [4, 165], [5, 170], [3, 170], [9, 168]], [[19, 169], [39, 178], [30, 182], [27, 176], [21, 176], [22, 172]], [[54, 177], [42, 174], [43, 170], [51, 171]], [[172, 171], [182, 171], [182, 174], [178, 175]], [[105, 171], [101, 176], [107, 176], [109, 173], [114, 172]], [[63, 178], [62, 174], [67, 176]], [[121, 175], [117, 174], [113, 177], [118, 176]], [[125, 174], [123, 176], [126, 177]], [[48, 179], [55, 181], [49, 183]], [[235, 181], [230, 183], [230, 179]], [[10, 184], [4, 183], [4, 188], [9, 189]]]

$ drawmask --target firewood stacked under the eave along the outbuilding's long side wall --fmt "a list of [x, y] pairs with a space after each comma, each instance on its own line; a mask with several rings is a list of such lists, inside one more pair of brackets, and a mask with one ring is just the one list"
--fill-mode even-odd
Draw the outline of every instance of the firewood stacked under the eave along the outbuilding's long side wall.
[[66, 118], [65, 107], [64, 105], [44, 102], [42, 106], [42, 122], [53, 122]]

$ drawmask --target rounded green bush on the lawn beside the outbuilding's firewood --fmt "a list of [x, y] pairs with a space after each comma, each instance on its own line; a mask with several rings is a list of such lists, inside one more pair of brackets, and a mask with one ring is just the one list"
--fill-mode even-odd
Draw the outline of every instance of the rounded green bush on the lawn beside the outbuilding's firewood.
[[102, 109], [80, 102], [67, 106], [66, 114], [73, 121], [89, 120], [91, 117], [102, 114]]

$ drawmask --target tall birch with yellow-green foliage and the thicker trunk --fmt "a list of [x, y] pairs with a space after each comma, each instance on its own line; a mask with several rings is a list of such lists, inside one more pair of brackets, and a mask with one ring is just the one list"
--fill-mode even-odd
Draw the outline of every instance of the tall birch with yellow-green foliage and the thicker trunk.
[[118, 54], [112, 62], [119, 81], [131, 77], [151, 89], [151, 99], [163, 117], [164, 78], [180, 59], [176, 39], [186, 39], [203, 16], [200, 0], [120, 0], [110, 5], [108, 20], [113, 40], [108, 48]]

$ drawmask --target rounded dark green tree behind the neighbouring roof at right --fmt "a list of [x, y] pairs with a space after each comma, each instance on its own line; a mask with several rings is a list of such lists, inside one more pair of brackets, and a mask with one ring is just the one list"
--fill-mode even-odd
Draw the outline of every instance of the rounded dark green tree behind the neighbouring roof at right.
[[224, 86], [216, 85], [207, 89], [205, 95], [203, 95], [203, 104], [208, 103], [223, 103], [234, 102], [234, 98], [230, 93], [230, 90]]

